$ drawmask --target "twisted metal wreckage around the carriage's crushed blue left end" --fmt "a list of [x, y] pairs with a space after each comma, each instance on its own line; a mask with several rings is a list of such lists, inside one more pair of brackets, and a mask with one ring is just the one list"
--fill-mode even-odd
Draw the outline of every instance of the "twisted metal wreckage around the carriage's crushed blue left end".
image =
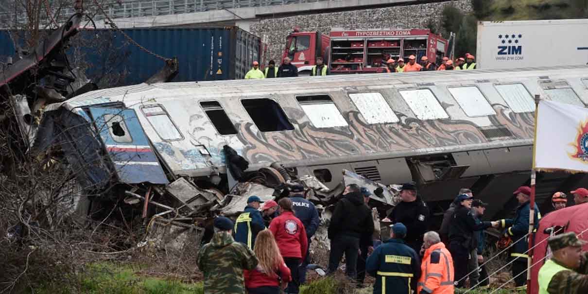
[[[226, 173], [211, 172], [206, 181], [174, 173], [153, 148], [141, 124], [133, 119], [132, 109], [108, 101], [92, 103], [89, 108], [76, 107], [83, 103], [75, 101], [65, 103], [98, 88], [83, 72], [71, 68], [65, 54], [69, 39], [82, 29], [82, 18], [81, 14], [72, 16], [36, 48], [19, 52], [21, 58], [4, 70], [0, 80], [2, 96], [9, 99], [21, 131], [19, 143], [33, 155], [61, 149], [68, 168], [78, 171], [76, 182], [81, 190], [71, 195], [71, 213], [78, 222], [92, 218], [105, 203], [113, 205], [123, 199], [125, 205], [142, 211], [143, 219], [151, 218], [149, 239], [182, 249], [202, 240], [204, 227], [210, 224], [207, 220], [213, 216], [236, 217], [250, 195], [258, 195], [263, 201], [286, 196], [288, 182], [302, 183], [308, 199], [321, 212], [336, 203], [350, 183], [376, 191], [370, 205], [382, 213], [397, 202], [397, 187], [345, 169], [343, 181], [333, 189], [315, 176], [298, 176], [295, 168], [284, 168], [279, 162], [251, 171], [249, 162], [228, 145], [223, 148]], [[168, 82], [177, 72], [177, 61], [169, 60], [146, 83]], [[125, 144], [129, 142], [132, 144]], [[206, 149], [201, 153], [204, 155]], [[16, 164], [3, 161], [5, 166]], [[325, 225], [329, 213], [322, 214]], [[316, 238], [325, 241], [326, 229], [323, 231], [319, 230]]]

